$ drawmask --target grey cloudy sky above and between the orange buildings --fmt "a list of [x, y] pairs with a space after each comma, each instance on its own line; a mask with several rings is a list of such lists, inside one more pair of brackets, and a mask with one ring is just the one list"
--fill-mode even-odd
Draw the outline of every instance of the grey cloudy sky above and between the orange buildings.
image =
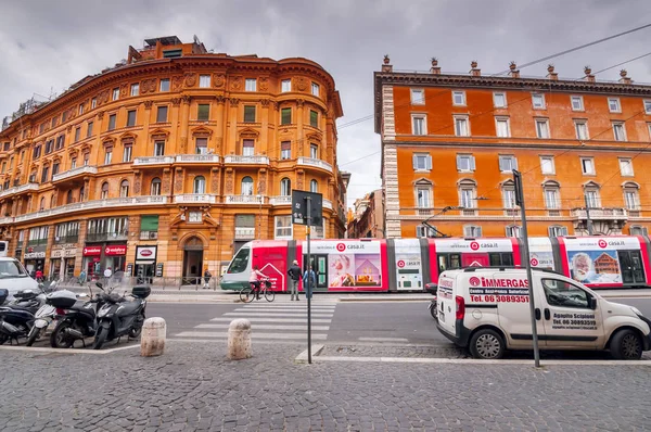
[[[348, 204], [381, 186], [373, 132], [373, 72], [384, 54], [396, 69], [484, 74], [651, 23], [649, 0], [247, 0], [4, 1], [0, 13], [0, 117], [34, 93], [61, 93], [127, 56], [145, 38], [196, 35], [207, 49], [319, 62], [336, 81], [341, 169], [353, 173]], [[651, 51], [651, 28], [553, 59], [561, 77], [583, 76]], [[546, 75], [547, 63], [522, 69]], [[651, 82], [651, 55], [622, 66]], [[620, 67], [598, 79], [617, 79]], [[366, 120], [347, 125], [354, 120]], [[347, 125], [347, 126], [346, 126]]]

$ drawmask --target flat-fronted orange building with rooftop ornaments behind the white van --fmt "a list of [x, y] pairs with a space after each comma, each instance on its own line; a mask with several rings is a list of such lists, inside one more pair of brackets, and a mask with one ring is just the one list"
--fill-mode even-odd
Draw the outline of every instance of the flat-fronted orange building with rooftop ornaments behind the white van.
[[[531, 236], [642, 233], [651, 225], [651, 86], [622, 71], [597, 81], [374, 74], [386, 237], [510, 237], [520, 231], [512, 169], [523, 173]], [[586, 207], [588, 212], [586, 212]], [[588, 213], [589, 219], [588, 224]]]

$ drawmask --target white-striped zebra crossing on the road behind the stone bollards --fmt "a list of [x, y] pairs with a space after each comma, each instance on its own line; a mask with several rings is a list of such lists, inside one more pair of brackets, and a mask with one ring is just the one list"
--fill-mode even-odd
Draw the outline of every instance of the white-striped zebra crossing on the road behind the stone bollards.
[[[324, 341], [334, 316], [336, 303], [312, 302], [311, 338]], [[251, 339], [259, 341], [303, 341], [307, 338], [307, 302], [251, 303], [203, 322], [190, 331], [174, 334], [184, 340], [226, 340], [233, 319], [251, 321]]]

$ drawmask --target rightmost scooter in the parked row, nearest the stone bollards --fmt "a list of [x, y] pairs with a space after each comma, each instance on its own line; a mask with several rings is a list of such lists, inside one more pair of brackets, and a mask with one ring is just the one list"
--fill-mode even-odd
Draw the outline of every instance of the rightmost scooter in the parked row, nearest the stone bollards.
[[148, 285], [137, 285], [131, 290], [132, 301], [124, 295], [110, 293], [105, 295], [105, 303], [98, 310], [98, 327], [94, 335], [93, 350], [101, 350], [106, 341], [119, 339], [137, 339], [142, 332], [146, 297], [152, 292]]

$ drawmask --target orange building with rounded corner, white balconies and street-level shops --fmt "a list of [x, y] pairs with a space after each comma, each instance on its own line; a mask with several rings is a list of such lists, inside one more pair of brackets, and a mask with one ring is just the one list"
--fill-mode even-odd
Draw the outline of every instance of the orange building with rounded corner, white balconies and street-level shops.
[[304, 238], [290, 216], [299, 189], [323, 194], [316, 237], [341, 238], [342, 115], [333, 78], [312, 61], [148, 39], [5, 122], [1, 236], [47, 275], [217, 276], [246, 241]]

